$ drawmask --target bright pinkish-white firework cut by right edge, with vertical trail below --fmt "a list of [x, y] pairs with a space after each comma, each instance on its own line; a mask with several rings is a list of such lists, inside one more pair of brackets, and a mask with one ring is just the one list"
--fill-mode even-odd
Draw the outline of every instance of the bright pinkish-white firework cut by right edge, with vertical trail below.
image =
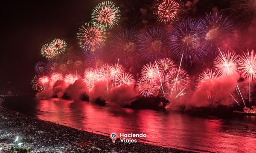
[[247, 54], [241, 55], [241, 59], [239, 61], [239, 69], [242, 76], [249, 79], [249, 102], [250, 102], [250, 82], [256, 79], [256, 56], [251, 51], [247, 51]]

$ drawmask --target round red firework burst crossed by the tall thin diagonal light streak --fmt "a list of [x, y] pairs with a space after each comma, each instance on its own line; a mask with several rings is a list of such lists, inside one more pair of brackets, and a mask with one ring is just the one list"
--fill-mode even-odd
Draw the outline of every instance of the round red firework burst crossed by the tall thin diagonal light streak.
[[165, 85], [170, 91], [180, 92], [188, 87], [189, 82], [189, 74], [181, 68], [175, 68], [167, 74]]

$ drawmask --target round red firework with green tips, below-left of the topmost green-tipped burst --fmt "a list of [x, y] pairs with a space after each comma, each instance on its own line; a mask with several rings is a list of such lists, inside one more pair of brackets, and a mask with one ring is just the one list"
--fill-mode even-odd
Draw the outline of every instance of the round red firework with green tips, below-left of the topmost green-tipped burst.
[[79, 45], [84, 50], [89, 50], [97, 48], [98, 45], [102, 45], [105, 41], [103, 36], [103, 31], [93, 24], [85, 23], [81, 28], [79, 28], [79, 33], [77, 33], [77, 38], [79, 39]]

